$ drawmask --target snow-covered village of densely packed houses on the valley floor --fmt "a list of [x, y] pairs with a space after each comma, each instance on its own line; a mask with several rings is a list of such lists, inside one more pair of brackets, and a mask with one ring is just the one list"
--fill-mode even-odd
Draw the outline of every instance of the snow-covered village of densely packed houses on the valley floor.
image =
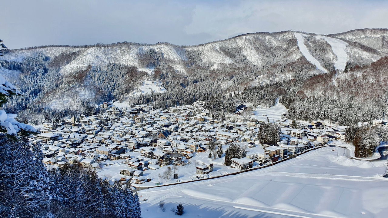
[[101, 115], [79, 114], [35, 126], [40, 134], [29, 141], [41, 147], [47, 166], [97, 168], [102, 178], [133, 188], [229, 175], [324, 146], [351, 146], [345, 143], [347, 126], [323, 121], [293, 125], [280, 103], [253, 111], [240, 104], [224, 120], [213, 119], [204, 104], [197, 101], [161, 111], [104, 102]]

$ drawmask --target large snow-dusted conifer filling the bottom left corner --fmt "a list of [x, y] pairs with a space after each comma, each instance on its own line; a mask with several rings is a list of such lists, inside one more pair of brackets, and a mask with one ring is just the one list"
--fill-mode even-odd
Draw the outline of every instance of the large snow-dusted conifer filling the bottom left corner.
[[23, 140], [0, 135], [0, 216], [47, 216], [49, 184], [39, 157]]

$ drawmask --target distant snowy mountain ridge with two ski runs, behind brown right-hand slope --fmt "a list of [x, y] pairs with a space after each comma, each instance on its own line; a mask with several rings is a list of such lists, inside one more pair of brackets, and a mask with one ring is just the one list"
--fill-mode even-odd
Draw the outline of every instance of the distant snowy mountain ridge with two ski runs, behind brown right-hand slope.
[[58, 109], [103, 100], [154, 101], [151, 95], [169, 106], [369, 66], [387, 55], [387, 35], [388, 29], [326, 36], [283, 31], [194, 46], [52, 45], [9, 50], [0, 59], [0, 75], [23, 93], [5, 105], [13, 112], [36, 104]]

